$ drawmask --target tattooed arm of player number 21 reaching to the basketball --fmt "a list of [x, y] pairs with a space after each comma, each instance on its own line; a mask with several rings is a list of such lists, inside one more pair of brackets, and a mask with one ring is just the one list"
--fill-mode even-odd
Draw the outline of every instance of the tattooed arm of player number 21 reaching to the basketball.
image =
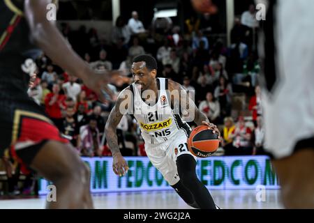
[[[204, 113], [200, 112], [200, 109], [197, 108], [197, 106], [195, 105], [193, 100], [188, 96], [188, 93], [186, 92], [184, 87], [181, 86], [181, 84], [177, 82], [173, 82], [172, 80], [169, 80], [168, 89], [170, 90], [170, 93], [173, 90], [179, 91], [179, 105], [180, 105], [182, 114], [188, 114], [188, 116], [191, 116], [191, 114], [194, 114], [193, 121], [197, 125], [207, 125], [211, 130], [214, 131], [214, 133], [217, 132], [218, 136], [220, 137], [220, 132], [217, 126], [211, 123]], [[172, 95], [172, 98], [171, 98], [172, 105], [175, 105], [176, 100], [174, 99], [174, 94], [171, 93], [171, 95]], [[185, 105], [185, 106], [181, 106], [181, 105]]]

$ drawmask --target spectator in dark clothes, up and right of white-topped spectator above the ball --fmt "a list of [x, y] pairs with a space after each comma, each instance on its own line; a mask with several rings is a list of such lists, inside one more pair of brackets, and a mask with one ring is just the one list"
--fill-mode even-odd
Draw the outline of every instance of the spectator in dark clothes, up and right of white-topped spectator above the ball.
[[214, 97], [220, 104], [220, 113], [223, 117], [230, 116], [232, 87], [227, 83], [225, 77], [219, 77], [219, 83], [214, 91]]

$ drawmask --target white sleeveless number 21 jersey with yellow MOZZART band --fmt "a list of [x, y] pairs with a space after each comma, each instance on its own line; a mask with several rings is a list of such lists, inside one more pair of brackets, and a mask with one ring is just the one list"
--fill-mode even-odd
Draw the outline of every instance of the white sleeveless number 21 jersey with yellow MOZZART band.
[[157, 78], [158, 100], [154, 106], [149, 106], [142, 100], [142, 92], [135, 84], [133, 89], [133, 115], [140, 125], [140, 130], [145, 144], [160, 144], [170, 140], [178, 132], [190, 132], [188, 124], [181, 119], [179, 114], [174, 114], [171, 108], [170, 94], [167, 94], [167, 79]]

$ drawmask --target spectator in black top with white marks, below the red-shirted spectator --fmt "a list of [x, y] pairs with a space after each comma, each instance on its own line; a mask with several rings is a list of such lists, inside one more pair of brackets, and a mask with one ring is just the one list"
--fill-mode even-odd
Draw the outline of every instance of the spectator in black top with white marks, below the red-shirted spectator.
[[66, 117], [63, 118], [61, 133], [63, 137], [68, 139], [73, 146], [77, 145], [77, 122], [74, 118], [75, 108], [67, 107], [66, 108]]

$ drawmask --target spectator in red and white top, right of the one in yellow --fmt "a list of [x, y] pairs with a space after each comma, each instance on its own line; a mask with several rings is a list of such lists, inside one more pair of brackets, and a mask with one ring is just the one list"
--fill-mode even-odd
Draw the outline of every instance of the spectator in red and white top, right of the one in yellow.
[[238, 123], [234, 128], [230, 138], [233, 139], [234, 155], [252, 155], [253, 146], [251, 144], [251, 129], [246, 127], [244, 117], [239, 116]]

